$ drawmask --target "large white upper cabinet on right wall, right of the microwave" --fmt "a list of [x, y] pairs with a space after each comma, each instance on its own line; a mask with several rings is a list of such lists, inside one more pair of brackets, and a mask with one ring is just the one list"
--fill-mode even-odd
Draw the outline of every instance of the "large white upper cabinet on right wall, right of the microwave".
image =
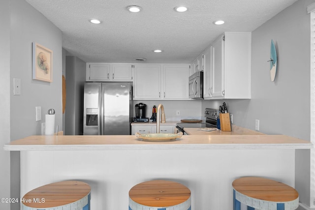
[[226, 32], [203, 55], [205, 99], [251, 98], [250, 32]]

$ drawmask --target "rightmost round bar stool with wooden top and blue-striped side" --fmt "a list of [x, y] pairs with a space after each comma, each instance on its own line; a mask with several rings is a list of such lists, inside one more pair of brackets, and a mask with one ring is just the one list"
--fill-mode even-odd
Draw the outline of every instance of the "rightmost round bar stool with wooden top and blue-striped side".
[[295, 210], [299, 193], [284, 183], [260, 177], [234, 180], [233, 210]]

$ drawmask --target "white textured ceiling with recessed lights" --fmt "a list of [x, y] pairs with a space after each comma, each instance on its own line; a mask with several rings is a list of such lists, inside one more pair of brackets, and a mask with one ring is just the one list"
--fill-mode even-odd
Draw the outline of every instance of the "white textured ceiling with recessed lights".
[[[224, 31], [253, 31], [297, 0], [26, 1], [63, 31], [63, 48], [86, 62], [189, 63]], [[188, 11], [176, 12], [179, 5]], [[214, 25], [219, 19], [225, 24]]]

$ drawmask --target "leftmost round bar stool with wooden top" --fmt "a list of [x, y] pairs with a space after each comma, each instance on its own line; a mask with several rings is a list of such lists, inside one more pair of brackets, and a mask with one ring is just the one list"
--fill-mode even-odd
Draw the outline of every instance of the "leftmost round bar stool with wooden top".
[[83, 181], [60, 181], [26, 193], [22, 210], [90, 210], [91, 187]]

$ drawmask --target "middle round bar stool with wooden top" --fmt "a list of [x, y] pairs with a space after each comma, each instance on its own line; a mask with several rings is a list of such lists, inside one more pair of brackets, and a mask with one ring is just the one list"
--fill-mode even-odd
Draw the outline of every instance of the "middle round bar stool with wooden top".
[[175, 181], [151, 180], [129, 190], [129, 210], [191, 210], [190, 190]]

